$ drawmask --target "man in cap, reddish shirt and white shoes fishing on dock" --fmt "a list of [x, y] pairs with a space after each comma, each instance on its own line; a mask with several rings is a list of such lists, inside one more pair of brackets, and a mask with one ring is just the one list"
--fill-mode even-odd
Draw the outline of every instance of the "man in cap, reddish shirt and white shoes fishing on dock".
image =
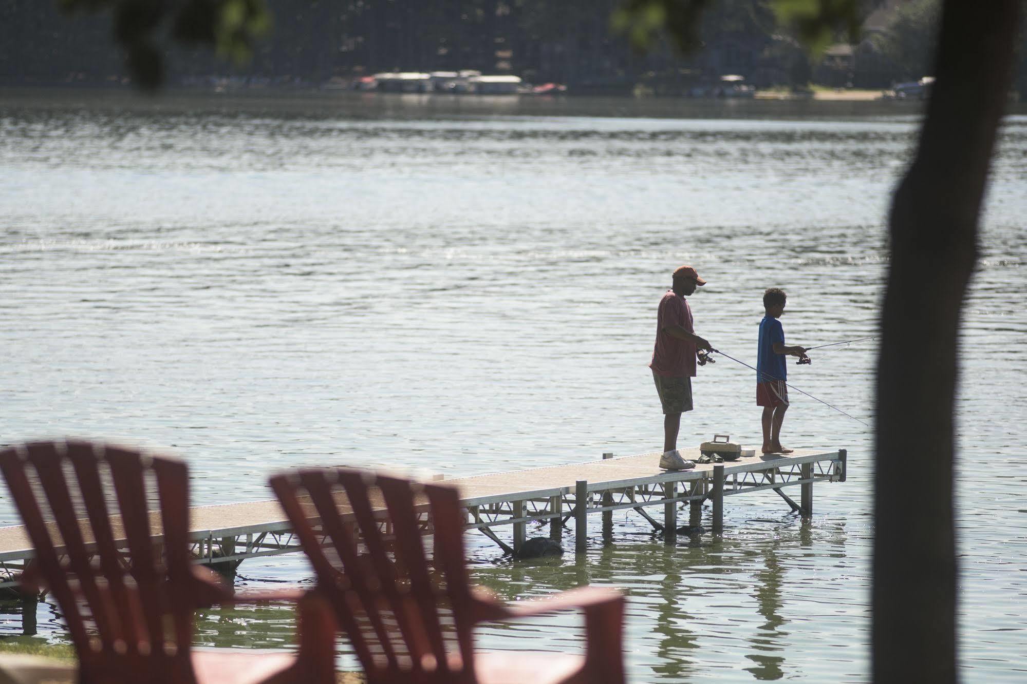
[[665, 470], [695, 467], [678, 453], [678, 431], [681, 414], [692, 410], [692, 377], [695, 376], [696, 358], [699, 365], [708, 360], [705, 354], [699, 354], [699, 350], [710, 352], [713, 347], [695, 334], [692, 310], [685, 297], [706, 282], [692, 267], [679, 267], [674, 272], [671, 289], [663, 294], [656, 311], [656, 345], [649, 367], [663, 407], [663, 455], [659, 467]]

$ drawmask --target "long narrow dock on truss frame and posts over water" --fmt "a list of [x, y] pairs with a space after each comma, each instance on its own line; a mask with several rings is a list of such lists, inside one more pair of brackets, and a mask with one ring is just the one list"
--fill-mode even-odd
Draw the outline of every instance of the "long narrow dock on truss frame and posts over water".
[[[698, 448], [682, 449], [695, 460]], [[460, 491], [467, 510], [467, 529], [478, 529], [504, 551], [517, 553], [525, 541], [528, 523], [548, 521], [549, 533], [561, 538], [571, 517], [575, 551], [587, 542], [587, 516], [603, 516], [604, 532], [612, 525], [612, 512], [633, 509], [664, 541], [676, 542], [678, 505], [689, 504], [689, 525], [699, 524], [701, 505], [712, 502], [712, 531], [723, 530], [724, 497], [767, 489], [775, 490], [793, 510], [812, 512], [812, 485], [844, 482], [846, 452], [798, 449], [788, 455], [769, 454], [723, 464], [696, 465], [687, 471], [659, 468], [659, 452], [603, 458], [581, 464], [535, 468], [489, 475], [454, 478], [447, 482]], [[782, 488], [799, 487], [800, 502]], [[662, 506], [657, 521], [646, 509]], [[234, 568], [250, 558], [300, 552], [284, 514], [275, 500], [204, 506], [190, 510], [193, 553], [198, 563]], [[509, 526], [509, 542], [497, 528]], [[16, 585], [25, 563], [33, 556], [22, 526], [0, 528], [0, 588]], [[227, 565], [225, 565], [227, 564]]]

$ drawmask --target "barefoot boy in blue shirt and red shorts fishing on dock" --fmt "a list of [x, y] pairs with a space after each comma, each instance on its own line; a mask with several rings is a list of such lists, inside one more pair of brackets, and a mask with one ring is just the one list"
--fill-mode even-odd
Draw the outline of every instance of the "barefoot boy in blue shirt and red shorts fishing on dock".
[[763, 292], [766, 315], [760, 321], [760, 337], [756, 359], [756, 405], [763, 407], [763, 453], [792, 453], [781, 445], [781, 426], [788, 410], [788, 367], [786, 356], [806, 360], [802, 347], [785, 345], [785, 329], [777, 319], [785, 313], [788, 295], [776, 287]]

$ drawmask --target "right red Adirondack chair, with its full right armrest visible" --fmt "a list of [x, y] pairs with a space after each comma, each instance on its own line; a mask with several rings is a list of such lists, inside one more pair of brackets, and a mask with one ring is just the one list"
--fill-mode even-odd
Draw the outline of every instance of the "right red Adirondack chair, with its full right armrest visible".
[[[507, 606], [472, 590], [455, 488], [345, 468], [276, 475], [271, 488], [369, 684], [624, 681], [620, 593], [589, 587]], [[567, 608], [584, 611], [583, 656], [474, 649], [479, 622]]]

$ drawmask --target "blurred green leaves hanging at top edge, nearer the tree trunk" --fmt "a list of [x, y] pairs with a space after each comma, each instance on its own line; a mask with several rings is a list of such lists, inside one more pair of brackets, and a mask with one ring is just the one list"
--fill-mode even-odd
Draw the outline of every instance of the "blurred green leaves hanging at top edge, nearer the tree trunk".
[[626, 0], [611, 18], [613, 30], [625, 34], [638, 49], [649, 49], [660, 36], [680, 50], [702, 45], [703, 13], [723, 7], [730, 17], [740, 12], [756, 18], [767, 4], [776, 24], [797, 36], [813, 54], [820, 54], [839, 35], [858, 42], [864, 12], [874, 3], [861, 0]]

